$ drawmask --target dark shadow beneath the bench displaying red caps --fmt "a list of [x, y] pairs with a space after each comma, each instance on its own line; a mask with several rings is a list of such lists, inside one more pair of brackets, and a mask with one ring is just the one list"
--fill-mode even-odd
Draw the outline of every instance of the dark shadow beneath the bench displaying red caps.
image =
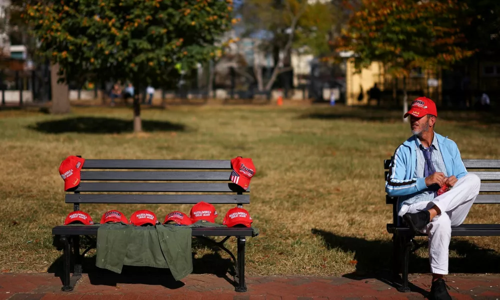
[[[85, 244], [85, 241], [83, 241]], [[230, 241], [229, 241], [230, 242]], [[233, 240], [234, 242], [234, 240]], [[192, 274], [214, 274], [217, 277], [224, 278], [229, 284], [236, 287], [237, 282], [233, 279], [236, 274], [231, 258], [224, 258], [220, 255], [221, 249], [214, 246], [211, 242], [194, 238], [192, 241], [192, 249], [196, 251], [200, 248], [210, 248], [213, 253], [204, 254], [202, 257], [195, 257], [195, 253], [191, 253], [193, 257]], [[74, 261], [71, 262], [71, 272], [73, 272]], [[99, 268], [96, 266], [96, 256], [83, 257], [82, 259], [83, 273], [88, 274], [90, 283], [93, 285], [109, 285], [116, 286], [118, 283], [130, 284], [147, 284], [147, 285], [162, 285], [169, 289], [177, 289], [184, 286], [182, 281], [177, 281], [173, 277], [170, 269], [156, 268], [149, 266], [131, 266], [124, 265], [122, 272], [116, 273], [108, 269]], [[63, 255], [54, 261], [48, 269], [49, 273], [54, 273], [56, 277], [63, 277]], [[233, 277], [230, 278], [229, 276]]]

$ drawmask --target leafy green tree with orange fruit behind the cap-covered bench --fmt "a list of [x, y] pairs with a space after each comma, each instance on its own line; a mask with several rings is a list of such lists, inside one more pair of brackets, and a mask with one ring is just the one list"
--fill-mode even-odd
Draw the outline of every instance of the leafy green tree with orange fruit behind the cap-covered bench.
[[23, 17], [40, 52], [59, 64], [61, 81], [91, 74], [93, 82], [132, 82], [138, 132], [140, 91], [177, 78], [178, 63], [187, 70], [214, 57], [231, 11], [231, 0], [44, 0], [28, 4]]

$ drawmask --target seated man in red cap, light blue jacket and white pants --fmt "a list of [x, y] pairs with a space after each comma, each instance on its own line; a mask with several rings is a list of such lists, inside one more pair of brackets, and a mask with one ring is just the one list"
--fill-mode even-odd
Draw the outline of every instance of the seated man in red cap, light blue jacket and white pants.
[[464, 221], [480, 179], [467, 173], [455, 142], [434, 132], [437, 110], [431, 99], [416, 98], [408, 115], [413, 135], [394, 152], [385, 191], [398, 197], [398, 215], [406, 225], [429, 235], [430, 298], [451, 299], [443, 279], [451, 227]]

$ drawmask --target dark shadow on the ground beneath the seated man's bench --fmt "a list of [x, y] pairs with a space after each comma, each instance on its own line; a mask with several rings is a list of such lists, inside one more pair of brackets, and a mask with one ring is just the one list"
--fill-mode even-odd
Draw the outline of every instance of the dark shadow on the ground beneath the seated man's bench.
[[[344, 252], [354, 252], [356, 271], [345, 274], [344, 277], [363, 280], [376, 278], [395, 288], [400, 286], [401, 278], [394, 278], [392, 274], [392, 241], [386, 240], [366, 240], [359, 237], [342, 236], [335, 233], [312, 228], [314, 235], [321, 236], [328, 249], [341, 249]], [[425, 241], [426, 238], [419, 238], [418, 241]], [[467, 240], [452, 238], [449, 248], [455, 250], [458, 256], [449, 258], [450, 273], [496, 273], [500, 256], [492, 249], [485, 249], [476, 246]], [[480, 263], [477, 263], [480, 261]], [[428, 258], [417, 257], [410, 254], [409, 272], [429, 273]], [[430, 277], [429, 277], [430, 280]], [[430, 282], [429, 282], [430, 283]], [[409, 282], [411, 291], [428, 295], [428, 291]]]

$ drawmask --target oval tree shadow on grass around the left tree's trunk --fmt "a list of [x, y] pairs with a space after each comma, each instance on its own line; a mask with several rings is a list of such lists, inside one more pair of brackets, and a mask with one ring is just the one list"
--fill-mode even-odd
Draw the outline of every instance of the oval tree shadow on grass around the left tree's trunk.
[[[132, 132], [134, 124], [132, 120], [120, 118], [79, 116], [38, 122], [28, 128], [43, 133], [122, 133]], [[142, 120], [142, 128], [144, 131], [183, 131], [186, 126], [169, 121]]]

